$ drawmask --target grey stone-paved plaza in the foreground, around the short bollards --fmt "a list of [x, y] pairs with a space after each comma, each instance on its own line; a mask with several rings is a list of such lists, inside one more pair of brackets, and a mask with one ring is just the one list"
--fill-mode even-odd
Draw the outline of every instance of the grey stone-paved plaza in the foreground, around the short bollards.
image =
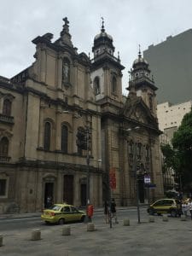
[[[33, 229], [41, 230], [40, 241], [30, 240], [31, 224], [25, 229], [1, 229], [3, 247], [0, 247], [0, 255], [191, 255], [192, 221], [189, 218], [181, 221], [180, 218], [169, 217], [168, 222], [164, 222], [161, 216], [154, 216], [155, 222], [149, 223], [146, 210], [141, 209], [142, 224], [137, 224], [137, 211], [131, 209], [119, 211], [119, 224], [110, 229], [108, 224], [103, 223], [102, 212], [96, 215], [96, 231], [87, 232], [86, 224], [70, 224], [71, 236], [61, 236], [63, 226], [45, 225], [37, 219]], [[127, 216], [130, 226], [123, 225]], [[6, 220], [1, 220], [1, 227], [2, 223]]]

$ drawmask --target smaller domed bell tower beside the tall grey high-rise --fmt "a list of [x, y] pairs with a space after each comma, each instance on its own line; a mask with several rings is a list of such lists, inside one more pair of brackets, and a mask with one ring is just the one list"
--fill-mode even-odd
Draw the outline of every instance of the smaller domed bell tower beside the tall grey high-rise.
[[156, 94], [157, 87], [154, 85], [153, 76], [150, 78], [150, 69], [148, 61], [143, 59], [139, 47], [138, 58], [133, 62], [130, 73], [129, 87], [130, 94], [133, 92], [137, 96], [141, 96], [143, 102], [148, 106], [150, 112], [156, 117]]

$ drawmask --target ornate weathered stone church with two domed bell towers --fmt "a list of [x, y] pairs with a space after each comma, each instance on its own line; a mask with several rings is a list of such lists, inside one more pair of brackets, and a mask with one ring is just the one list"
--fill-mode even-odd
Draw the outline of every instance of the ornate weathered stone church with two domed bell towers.
[[[119, 206], [163, 195], [153, 79], [139, 52], [127, 97], [113, 38], [94, 38], [94, 58], [73, 47], [69, 22], [52, 42], [32, 40], [35, 61], [0, 77], [0, 212], [38, 212], [52, 202]], [[146, 188], [150, 177], [154, 189]], [[113, 180], [112, 180], [113, 177]]]

